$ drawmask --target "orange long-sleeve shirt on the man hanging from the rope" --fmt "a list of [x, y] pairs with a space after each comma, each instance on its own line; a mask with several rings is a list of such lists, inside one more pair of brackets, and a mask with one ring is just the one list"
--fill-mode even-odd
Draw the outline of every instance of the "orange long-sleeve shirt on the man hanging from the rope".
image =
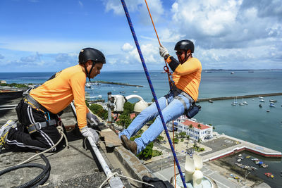
[[194, 101], [199, 95], [202, 64], [197, 58], [190, 58], [183, 64], [179, 64], [173, 73], [173, 81], [178, 89], [189, 94]]

